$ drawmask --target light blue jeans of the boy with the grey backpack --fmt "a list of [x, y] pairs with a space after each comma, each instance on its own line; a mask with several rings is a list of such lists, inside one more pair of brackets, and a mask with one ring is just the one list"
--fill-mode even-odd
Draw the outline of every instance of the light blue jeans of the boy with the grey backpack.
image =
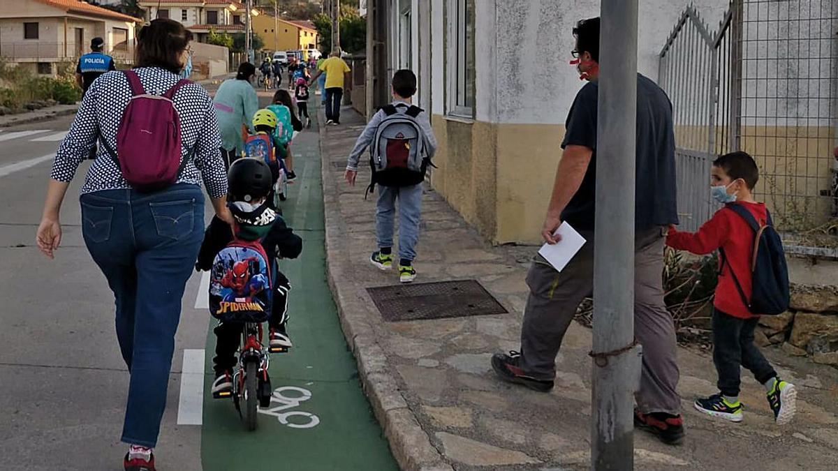
[[380, 248], [393, 246], [393, 222], [399, 200], [399, 257], [416, 260], [419, 220], [422, 216], [422, 184], [401, 188], [378, 186], [375, 205], [375, 238]]

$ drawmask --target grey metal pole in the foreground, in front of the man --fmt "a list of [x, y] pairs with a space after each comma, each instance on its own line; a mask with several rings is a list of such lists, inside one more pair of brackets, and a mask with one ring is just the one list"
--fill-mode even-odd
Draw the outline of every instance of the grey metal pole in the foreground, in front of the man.
[[593, 280], [592, 469], [634, 467], [638, 0], [602, 0]]

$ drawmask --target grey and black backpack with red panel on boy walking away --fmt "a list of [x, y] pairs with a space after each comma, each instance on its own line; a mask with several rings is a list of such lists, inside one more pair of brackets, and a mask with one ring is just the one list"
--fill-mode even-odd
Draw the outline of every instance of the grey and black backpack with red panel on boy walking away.
[[427, 137], [416, 121], [422, 108], [409, 106], [400, 113], [396, 106], [387, 105], [381, 111], [386, 116], [370, 146], [372, 184], [368, 191], [375, 190], [375, 184], [389, 187], [421, 184], [427, 166], [433, 166], [425, 150]]

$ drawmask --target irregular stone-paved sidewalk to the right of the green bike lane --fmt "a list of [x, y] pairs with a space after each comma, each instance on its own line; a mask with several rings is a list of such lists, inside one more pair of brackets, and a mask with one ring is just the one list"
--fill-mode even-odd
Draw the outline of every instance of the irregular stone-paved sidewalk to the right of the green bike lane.
[[[417, 282], [477, 279], [510, 313], [393, 323], [381, 318], [365, 288], [397, 284], [398, 276], [367, 261], [375, 250], [375, 195], [364, 199], [370, 173], [362, 166], [354, 188], [342, 178], [365, 121], [349, 109], [342, 113], [341, 126], [320, 130], [329, 284], [365, 391], [401, 468], [589, 468], [591, 331], [572, 324], [551, 393], [503, 383], [489, 365], [494, 352], [519, 347], [525, 272], [535, 247], [490, 246], [427, 189]], [[712, 360], [680, 349], [687, 437], [669, 447], [635, 433], [637, 468], [834, 469], [838, 370], [766, 351], [799, 387], [794, 422], [777, 427], [763, 386], [744, 373], [744, 422], [700, 415], [691, 400], [716, 392]]]

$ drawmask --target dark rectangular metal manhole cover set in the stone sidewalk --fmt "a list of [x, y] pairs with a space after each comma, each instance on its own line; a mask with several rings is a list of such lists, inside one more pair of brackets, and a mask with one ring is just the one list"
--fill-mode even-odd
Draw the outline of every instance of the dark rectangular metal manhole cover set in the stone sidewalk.
[[387, 321], [507, 313], [476, 280], [368, 287], [367, 292]]

